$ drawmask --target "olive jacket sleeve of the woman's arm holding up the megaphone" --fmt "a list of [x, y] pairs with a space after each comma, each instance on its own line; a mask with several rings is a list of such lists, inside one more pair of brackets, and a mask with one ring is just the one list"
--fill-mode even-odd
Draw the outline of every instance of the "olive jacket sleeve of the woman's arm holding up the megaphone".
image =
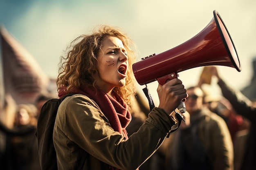
[[154, 108], [141, 128], [125, 139], [88, 97], [74, 95], [65, 100], [56, 118], [65, 136], [93, 157], [122, 170], [144, 163], [176, 123], [164, 110]]

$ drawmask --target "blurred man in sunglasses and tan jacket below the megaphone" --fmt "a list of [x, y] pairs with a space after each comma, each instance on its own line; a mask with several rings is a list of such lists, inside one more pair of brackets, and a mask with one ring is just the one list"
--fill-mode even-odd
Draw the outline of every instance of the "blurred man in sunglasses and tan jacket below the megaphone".
[[204, 105], [200, 87], [186, 89], [186, 121], [170, 136], [163, 169], [233, 170], [234, 151], [227, 124]]

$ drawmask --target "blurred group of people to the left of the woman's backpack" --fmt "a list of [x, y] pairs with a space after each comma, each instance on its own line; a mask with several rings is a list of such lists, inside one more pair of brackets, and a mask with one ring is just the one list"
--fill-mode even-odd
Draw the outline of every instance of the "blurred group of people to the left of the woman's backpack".
[[0, 121], [0, 169], [40, 170], [36, 126], [40, 109], [53, 95], [40, 95], [34, 104], [16, 104], [5, 96]]

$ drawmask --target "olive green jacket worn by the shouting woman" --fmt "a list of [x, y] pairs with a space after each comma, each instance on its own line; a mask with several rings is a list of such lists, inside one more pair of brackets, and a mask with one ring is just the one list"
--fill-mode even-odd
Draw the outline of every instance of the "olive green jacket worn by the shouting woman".
[[164, 110], [154, 108], [129, 139], [113, 130], [99, 106], [85, 95], [67, 97], [59, 106], [53, 141], [58, 170], [77, 170], [88, 153], [83, 170], [135, 170], [162, 144], [175, 125]]

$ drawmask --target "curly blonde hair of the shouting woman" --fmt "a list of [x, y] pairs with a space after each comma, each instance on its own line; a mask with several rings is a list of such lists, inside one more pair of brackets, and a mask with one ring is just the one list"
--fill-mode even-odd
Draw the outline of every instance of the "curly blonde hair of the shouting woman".
[[136, 93], [135, 79], [132, 71], [132, 64], [135, 63], [135, 44], [120, 28], [103, 25], [98, 30], [94, 30], [90, 35], [81, 35], [70, 43], [67, 48], [66, 57], [61, 56], [60, 67], [57, 77], [57, 88], [66, 87], [67, 92], [74, 88], [84, 88], [87, 86], [96, 87], [95, 77], [98, 74], [97, 56], [102, 51], [102, 41], [107, 36], [119, 38], [128, 53], [128, 73], [126, 84], [122, 87], [115, 87], [112, 93], [117, 93], [128, 105], [131, 104]]

